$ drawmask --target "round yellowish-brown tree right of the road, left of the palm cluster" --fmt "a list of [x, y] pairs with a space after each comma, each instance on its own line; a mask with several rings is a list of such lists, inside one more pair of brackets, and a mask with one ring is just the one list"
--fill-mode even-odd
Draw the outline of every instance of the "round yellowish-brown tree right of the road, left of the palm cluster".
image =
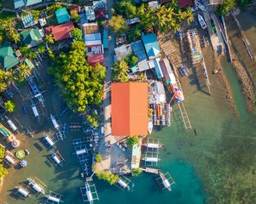
[[125, 19], [121, 15], [114, 15], [111, 20], [109, 20], [109, 26], [112, 28], [113, 32], [118, 35], [125, 33], [128, 29], [128, 26], [125, 25]]

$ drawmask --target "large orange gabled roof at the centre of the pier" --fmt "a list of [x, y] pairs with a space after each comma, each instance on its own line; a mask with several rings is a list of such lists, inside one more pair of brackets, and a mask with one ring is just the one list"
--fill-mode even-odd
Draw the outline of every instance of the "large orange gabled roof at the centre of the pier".
[[113, 136], [147, 135], [148, 83], [112, 83], [111, 111]]

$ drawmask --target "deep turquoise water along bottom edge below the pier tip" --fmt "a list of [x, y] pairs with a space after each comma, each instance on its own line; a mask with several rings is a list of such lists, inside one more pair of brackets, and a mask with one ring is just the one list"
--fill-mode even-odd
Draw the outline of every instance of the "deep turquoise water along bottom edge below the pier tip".
[[165, 171], [172, 174], [176, 184], [172, 185], [172, 191], [160, 190], [155, 181], [157, 175], [143, 173], [137, 178], [131, 178], [130, 191], [122, 191], [108, 184], [96, 182], [99, 191], [100, 203], [204, 203], [205, 195], [201, 190], [201, 181], [196, 177], [193, 167], [181, 161], [169, 161]]

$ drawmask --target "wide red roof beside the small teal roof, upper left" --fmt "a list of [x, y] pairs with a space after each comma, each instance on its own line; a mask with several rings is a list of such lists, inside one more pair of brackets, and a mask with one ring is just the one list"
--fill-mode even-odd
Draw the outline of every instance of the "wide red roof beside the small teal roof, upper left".
[[71, 37], [70, 31], [74, 28], [73, 22], [68, 21], [64, 24], [58, 26], [49, 26], [44, 28], [44, 31], [47, 35], [51, 33], [55, 38], [55, 41], [61, 41]]

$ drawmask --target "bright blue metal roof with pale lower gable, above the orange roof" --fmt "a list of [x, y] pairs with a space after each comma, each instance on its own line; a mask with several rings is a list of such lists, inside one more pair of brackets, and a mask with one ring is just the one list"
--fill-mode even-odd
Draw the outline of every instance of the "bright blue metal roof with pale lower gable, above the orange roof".
[[160, 56], [160, 47], [157, 42], [157, 37], [154, 33], [150, 33], [146, 36], [143, 36], [143, 44], [146, 49], [148, 59]]

